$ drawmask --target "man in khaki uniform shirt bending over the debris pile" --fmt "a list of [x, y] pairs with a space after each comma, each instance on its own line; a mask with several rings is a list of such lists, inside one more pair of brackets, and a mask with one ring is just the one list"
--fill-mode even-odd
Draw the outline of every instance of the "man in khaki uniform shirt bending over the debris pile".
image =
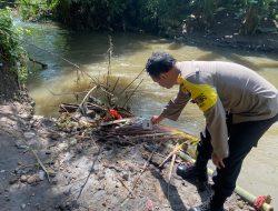
[[197, 147], [197, 160], [191, 168], [178, 167], [183, 178], [195, 177], [207, 182], [207, 163], [217, 167], [211, 200], [191, 211], [222, 211], [232, 194], [241, 164], [258, 140], [278, 121], [277, 89], [255, 71], [222, 61], [178, 62], [165, 52], [153, 53], [146, 70], [159, 86], [179, 86], [177, 97], [161, 114], [151, 118], [159, 123], [165, 118], [177, 120], [189, 100], [206, 118], [206, 130]]

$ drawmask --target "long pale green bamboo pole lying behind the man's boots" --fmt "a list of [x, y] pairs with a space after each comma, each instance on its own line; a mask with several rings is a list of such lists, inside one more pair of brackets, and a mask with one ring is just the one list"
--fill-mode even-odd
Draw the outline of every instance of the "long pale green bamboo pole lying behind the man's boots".
[[[172, 144], [166, 144], [167, 148], [175, 148]], [[185, 161], [189, 161], [189, 162], [195, 162], [195, 159], [190, 158], [188, 154], [186, 154], [185, 152], [179, 151], [178, 155], [185, 160]], [[211, 169], [208, 168], [208, 173], [211, 175], [214, 173], [214, 171]], [[249, 204], [254, 205], [255, 200], [257, 199], [257, 197], [255, 197], [252, 193], [248, 192], [247, 190], [242, 189], [241, 187], [237, 185], [235, 192], [241, 197], [245, 201], [247, 201]], [[261, 207], [262, 211], [274, 211], [274, 208], [271, 204], [268, 203], [264, 203]]]

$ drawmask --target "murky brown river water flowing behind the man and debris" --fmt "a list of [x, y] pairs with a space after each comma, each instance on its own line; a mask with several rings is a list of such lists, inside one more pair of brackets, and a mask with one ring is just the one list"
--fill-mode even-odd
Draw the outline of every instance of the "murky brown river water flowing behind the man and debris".
[[[29, 42], [67, 58], [93, 77], [101, 78], [107, 72], [106, 52], [109, 47], [107, 33], [72, 33], [53, 24], [17, 23], [32, 31], [32, 36], [26, 37]], [[170, 40], [157, 37], [132, 33], [113, 34], [112, 41], [115, 51], [111, 60], [113, 76], [111, 81], [113, 84], [117, 78], [120, 78], [119, 90], [142, 70], [151, 52], [158, 50], [167, 51], [178, 60], [238, 62], [258, 71], [259, 74], [278, 88], [278, 56], [197, 48], [172, 43]], [[77, 84], [76, 69], [58, 56], [49, 54], [32, 46], [29, 46], [28, 49], [30, 57], [49, 66], [47, 70], [34, 73], [28, 83], [30, 94], [37, 103], [37, 114], [56, 115], [59, 103], [76, 102], [72, 94], [59, 96], [58, 93], [71, 93], [89, 89], [88, 77], [86, 80], [81, 79], [80, 83]], [[143, 82], [130, 101], [131, 110], [138, 115], [147, 118], [159, 114], [163, 104], [176, 94], [177, 88], [172, 90], [159, 88], [146, 73], [135, 82], [135, 87], [141, 79], [143, 79]], [[173, 124], [192, 134], [199, 133], [203, 128], [203, 122], [201, 112], [190, 103], [186, 107], [178, 122], [166, 121], [166, 123]], [[269, 129], [259, 141], [258, 148], [254, 149], [248, 155], [238, 181], [238, 184], [256, 195], [272, 195], [275, 208], [278, 208], [277, 154], [278, 123]]]

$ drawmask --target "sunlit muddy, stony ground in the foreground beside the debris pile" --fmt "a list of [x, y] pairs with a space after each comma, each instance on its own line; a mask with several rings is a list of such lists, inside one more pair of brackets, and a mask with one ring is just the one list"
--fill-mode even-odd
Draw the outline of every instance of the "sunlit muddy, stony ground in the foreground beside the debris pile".
[[[80, 139], [80, 131], [58, 130], [54, 119], [31, 111], [29, 103], [0, 105], [1, 211], [185, 211], [211, 194], [175, 172], [168, 185], [169, 163], [162, 171], [156, 167], [167, 155], [163, 149], [143, 168], [151, 154], [146, 144], [152, 143]], [[47, 168], [49, 181], [30, 149]], [[226, 209], [254, 210], [236, 194]]]

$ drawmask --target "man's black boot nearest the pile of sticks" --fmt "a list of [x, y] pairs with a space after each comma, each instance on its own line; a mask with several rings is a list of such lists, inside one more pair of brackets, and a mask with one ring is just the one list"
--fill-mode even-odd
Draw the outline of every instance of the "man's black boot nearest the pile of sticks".
[[200, 171], [193, 164], [182, 163], [177, 167], [177, 174], [183, 180], [193, 180], [199, 191], [207, 190], [208, 173], [207, 170]]

